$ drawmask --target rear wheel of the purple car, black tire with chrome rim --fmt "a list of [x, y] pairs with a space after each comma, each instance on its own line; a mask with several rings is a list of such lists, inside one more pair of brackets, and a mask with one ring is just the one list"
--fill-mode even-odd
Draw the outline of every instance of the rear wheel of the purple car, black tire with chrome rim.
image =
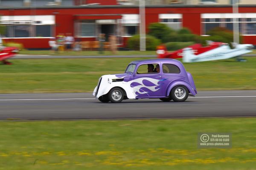
[[184, 102], [189, 96], [189, 90], [184, 85], [176, 85], [172, 88], [171, 98], [175, 102]]

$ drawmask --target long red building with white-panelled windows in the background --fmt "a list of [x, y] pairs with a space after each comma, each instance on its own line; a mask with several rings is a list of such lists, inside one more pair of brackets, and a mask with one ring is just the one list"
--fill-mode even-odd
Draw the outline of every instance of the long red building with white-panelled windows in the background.
[[[115, 34], [119, 45], [139, 31], [139, 7], [116, 5], [116, 0], [87, 0], [92, 6], [0, 7], [1, 23], [6, 25], [6, 42], [20, 42], [25, 48], [49, 48], [48, 41], [58, 34], [72, 33], [81, 40], [97, 40], [100, 33]], [[98, 4], [97, 4], [98, 3]], [[179, 29], [207, 36], [207, 30], [221, 26], [233, 30], [233, 18], [239, 18], [244, 43], [256, 44], [256, 6], [241, 5], [239, 14], [231, 5], [147, 6], [146, 27], [166, 23]]]

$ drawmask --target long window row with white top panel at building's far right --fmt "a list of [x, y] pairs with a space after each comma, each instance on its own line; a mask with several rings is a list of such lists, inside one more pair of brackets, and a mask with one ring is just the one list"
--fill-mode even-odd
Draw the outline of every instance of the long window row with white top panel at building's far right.
[[[224, 27], [233, 31], [233, 23], [239, 23], [239, 32], [243, 35], [256, 34], [256, 13], [237, 14], [202, 14], [203, 35], [216, 27]], [[237, 20], [235, 20], [237, 18]]]

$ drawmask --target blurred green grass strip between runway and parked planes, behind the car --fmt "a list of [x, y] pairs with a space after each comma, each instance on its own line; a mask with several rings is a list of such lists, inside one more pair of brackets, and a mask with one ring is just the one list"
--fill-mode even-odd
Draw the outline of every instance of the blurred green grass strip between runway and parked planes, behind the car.
[[[13, 65], [0, 65], [0, 93], [91, 92], [100, 76], [123, 73], [138, 59], [13, 59]], [[246, 59], [184, 65], [198, 90], [256, 89], [256, 58]]]

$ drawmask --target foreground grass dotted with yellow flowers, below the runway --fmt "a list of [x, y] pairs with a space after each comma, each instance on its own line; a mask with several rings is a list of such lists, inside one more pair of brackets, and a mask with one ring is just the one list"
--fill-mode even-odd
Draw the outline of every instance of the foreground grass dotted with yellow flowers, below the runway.
[[[0, 170], [255, 170], [255, 122], [0, 122]], [[199, 132], [232, 133], [232, 148], [198, 149]]]

